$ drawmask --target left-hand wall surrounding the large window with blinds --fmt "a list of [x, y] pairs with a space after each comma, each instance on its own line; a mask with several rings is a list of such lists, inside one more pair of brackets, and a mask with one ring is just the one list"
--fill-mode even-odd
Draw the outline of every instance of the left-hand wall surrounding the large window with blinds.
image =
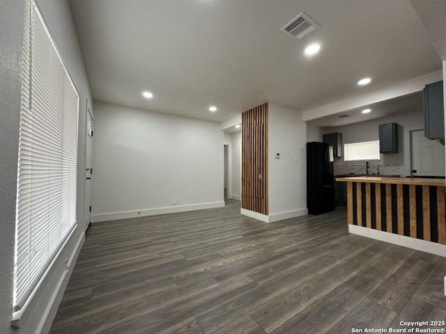
[[[66, 63], [68, 72], [79, 93], [79, 145], [77, 217], [84, 226], [84, 138], [86, 100], [91, 101], [77, 33], [68, 1], [37, 0], [49, 32]], [[47, 333], [68, 283], [84, 231], [77, 228], [61, 256], [56, 260], [47, 279], [17, 323], [20, 330], [12, 331], [13, 262], [15, 239], [15, 196], [17, 180], [17, 149], [20, 120], [20, 71], [23, 42], [24, 1], [0, 1], [0, 333]], [[72, 259], [67, 271], [64, 260]]]

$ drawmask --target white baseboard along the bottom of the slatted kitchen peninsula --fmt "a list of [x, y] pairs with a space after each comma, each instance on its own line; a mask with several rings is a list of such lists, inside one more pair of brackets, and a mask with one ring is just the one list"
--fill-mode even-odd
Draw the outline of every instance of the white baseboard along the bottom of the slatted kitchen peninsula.
[[[421, 250], [422, 252], [446, 257], [446, 245], [437, 244], [436, 242], [405, 237], [399, 234], [373, 230], [371, 228], [364, 228], [362, 226], [351, 225], [351, 224], [348, 225], [348, 232], [357, 235], [362, 235], [362, 237], [368, 237], [371, 239], [385, 241], [390, 244]], [[446, 293], [446, 286], [445, 286], [445, 293]]]

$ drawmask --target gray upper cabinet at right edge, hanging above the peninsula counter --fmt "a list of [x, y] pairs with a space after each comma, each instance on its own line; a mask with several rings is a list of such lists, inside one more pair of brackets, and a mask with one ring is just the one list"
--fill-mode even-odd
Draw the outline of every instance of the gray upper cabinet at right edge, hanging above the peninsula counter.
[[429, 139], [445, 138], [443, 81], [424, 87], [424, 136]]

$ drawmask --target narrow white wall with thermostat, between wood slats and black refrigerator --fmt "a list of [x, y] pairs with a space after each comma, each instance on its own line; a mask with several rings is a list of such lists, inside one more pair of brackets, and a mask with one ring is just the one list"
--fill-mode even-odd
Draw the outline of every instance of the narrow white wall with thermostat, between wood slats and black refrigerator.
[[[306, 124], [302, 114], [268, 106], [268, 216], [270, 221], [307, 214]], [[275, 159], [275, 153], [280, 159]], [[297, 161], [296, 161], [297, 159]]]

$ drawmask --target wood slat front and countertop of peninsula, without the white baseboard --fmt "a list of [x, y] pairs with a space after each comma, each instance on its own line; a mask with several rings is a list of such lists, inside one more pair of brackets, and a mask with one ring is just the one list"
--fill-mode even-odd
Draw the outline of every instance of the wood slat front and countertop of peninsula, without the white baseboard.
[[349, 224], [446, 245], [444, 185], [413, 184], [404, 179], [392, 184], [348, 179], [337, 180], [347, 182]]

